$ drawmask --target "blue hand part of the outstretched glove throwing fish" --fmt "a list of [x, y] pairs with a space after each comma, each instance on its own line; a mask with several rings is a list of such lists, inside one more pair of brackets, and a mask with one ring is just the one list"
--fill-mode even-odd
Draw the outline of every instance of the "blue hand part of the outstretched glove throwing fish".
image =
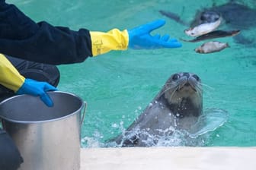
[[160, 36], [157, 34], [151, 36], [152, 30], [165, 25], [165, 20], [155, 20], [148, 24], [128, 30], [130, 49], [160, 49], [160, 48], [178, 48], [181, 42], [177, 39], [170, 39], [169, 35]]

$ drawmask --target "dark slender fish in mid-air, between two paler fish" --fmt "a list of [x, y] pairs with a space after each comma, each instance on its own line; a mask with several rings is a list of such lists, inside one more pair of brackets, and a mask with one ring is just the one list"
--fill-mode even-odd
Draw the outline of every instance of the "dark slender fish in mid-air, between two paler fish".
[[182, 41], [185, 42], [200, 42], [206, 39], [216, 39], [216, 38], [221, 38], [221, 37], [226, 37], [226, 36], [236, 36], [238, 33], [240, 33], [240, 30], [215, 30], [210, 33], [206, 33], [202, 36], [197, 36], [195, 39], [181, 39]]

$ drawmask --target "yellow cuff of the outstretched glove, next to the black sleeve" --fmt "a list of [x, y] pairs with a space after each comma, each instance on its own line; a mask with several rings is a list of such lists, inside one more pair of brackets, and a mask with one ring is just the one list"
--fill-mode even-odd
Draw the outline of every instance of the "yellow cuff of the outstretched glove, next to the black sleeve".
[[127, 30], [113, 29], [107, 33], [90, 31], [92, 55], [101, 55], [110, 50], [125, 50], [128, 47]]

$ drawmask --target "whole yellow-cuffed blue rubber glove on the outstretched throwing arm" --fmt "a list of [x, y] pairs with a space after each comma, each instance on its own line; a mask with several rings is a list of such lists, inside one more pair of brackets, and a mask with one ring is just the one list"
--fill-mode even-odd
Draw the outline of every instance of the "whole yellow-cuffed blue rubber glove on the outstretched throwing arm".
[[178, 48], [181, 42], [168, 34], [151, 35], [153, 30], [165, 25], [165, 20], [153, 20], [130, 30], [113, 29], [107, 33], [90, 32], [92, 55], [101, 55], [110, 50]]

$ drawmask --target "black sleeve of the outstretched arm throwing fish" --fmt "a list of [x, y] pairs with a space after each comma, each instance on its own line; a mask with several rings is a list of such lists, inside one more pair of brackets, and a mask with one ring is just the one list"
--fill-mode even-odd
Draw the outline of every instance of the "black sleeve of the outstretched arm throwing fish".
[[0, 0], [0, 53], [52, 65], [85, 61], [91, 54], [88, 30], [35, 23]]

